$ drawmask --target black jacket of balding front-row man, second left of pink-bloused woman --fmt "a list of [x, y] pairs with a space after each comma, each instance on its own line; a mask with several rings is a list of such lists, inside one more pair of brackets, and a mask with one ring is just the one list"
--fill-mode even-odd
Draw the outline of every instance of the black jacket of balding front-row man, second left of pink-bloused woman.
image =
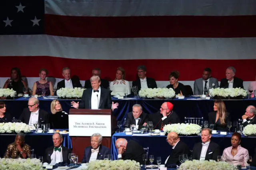
[[179, 156], [182, 154], [187, 154], [190, 156], [190, 150], [188, 148], [188, 145], [186, 145], [181, 140], [176, 144], [175, 148], [172, 150], [172, 153], [170, 154], [166, 165], [170, 164], [180, 164]]

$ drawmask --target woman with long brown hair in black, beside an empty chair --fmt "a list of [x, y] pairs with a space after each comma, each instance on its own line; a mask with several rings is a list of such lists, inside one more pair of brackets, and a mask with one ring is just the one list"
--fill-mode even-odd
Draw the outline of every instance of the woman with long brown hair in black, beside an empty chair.
[[216, 100], [213, 106], [213, 112], [208, 114], [209, 124], [214, 124], [215, 130], [228, 130], [230, 113], [226, 111], [225, 103], [222, 100]]

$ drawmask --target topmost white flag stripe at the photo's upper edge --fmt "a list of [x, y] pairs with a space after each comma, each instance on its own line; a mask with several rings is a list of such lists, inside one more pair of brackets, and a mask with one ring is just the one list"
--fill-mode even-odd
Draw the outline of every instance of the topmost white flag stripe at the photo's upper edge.
[[66, 16], [256, 15], [255, 0], [45, 0], [45, 13]]

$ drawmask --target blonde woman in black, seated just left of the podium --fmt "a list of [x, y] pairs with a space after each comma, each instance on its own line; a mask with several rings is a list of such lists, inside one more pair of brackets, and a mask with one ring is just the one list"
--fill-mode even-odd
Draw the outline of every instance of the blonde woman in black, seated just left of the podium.
[[68, 113], [62, 111], [62, 107], [58, 100], [53, 100], [51, 103], [50, 122], [54, 129], [68, 128]]

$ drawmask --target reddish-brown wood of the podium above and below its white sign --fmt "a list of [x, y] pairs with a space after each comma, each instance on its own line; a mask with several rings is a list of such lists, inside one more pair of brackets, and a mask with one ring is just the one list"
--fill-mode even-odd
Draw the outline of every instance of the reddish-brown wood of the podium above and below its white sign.
[[[111, 109], [70, 109], [69, 115], [110, 115], [111, 134], [116, 130], [116, 117], [112, 115]], [[100, 130], [98, 130], [98, 133], [101, 133]], [[92, 134], [87, 136], [71, 136], [72, 152], [78, 155], [78, 162], [82, 161], [84, 149], [91, 146], [91, 135]], [[102, 145], [111, 148], [111, 136], [102, 136]]]

